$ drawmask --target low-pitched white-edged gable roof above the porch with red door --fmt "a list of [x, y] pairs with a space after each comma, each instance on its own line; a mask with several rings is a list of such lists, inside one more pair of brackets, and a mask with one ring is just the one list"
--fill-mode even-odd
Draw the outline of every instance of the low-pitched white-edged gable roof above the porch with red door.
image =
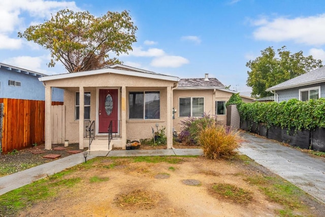
[[[114, 66], [117, 67], [117, 65], [118, 65], [118, 67], [125, 68], [126, 70], [111, 68]], [[154, 73], [154, 72], [150, 72], [150, 71], [146, 71], [146, 70], [140, 70], [140, 69], [136, 69], [133, 67], [127, 67], [127, 66], [123, 66], [123, 65], [119, 65], [119, 64], [117, 64], [117, 65], [113, 65], [106, 69], [45, 76], [45, 77], [39, 78], [39, 80], [40, 81], [49, 81], [49, 80], [74, 78], [74, 77], [81, 77], [81, 76], [88, 76], [88, 75], [99, 75], [99, 74], [105, 74], [105, 73], [114, 73], [114, 74], [119, 74], [119, 75], [129, 75], [129, 76], [144, 77], [144, 78], [154, 78], [154, 79], [168, 80], [168, 81], [179, 81], [179, 79], [180, 79], [175, 76], [158, 74], [158, 73]], [[132, 70], [132, 69], [135, 69], [135, 70]]]

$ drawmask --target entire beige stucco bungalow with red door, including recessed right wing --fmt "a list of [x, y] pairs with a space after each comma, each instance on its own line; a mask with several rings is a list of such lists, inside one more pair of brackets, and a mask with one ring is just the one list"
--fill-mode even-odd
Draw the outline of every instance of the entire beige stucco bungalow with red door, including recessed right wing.
[[[156, 127], [166, 128], [167, 148], [172, 148], [172, 129], [179, 130], [178, 122], [185, 117], [206, 112], [217, 114], [225, 122], [225, 102], [234, 92], [208, 75], [204, 79], [180, 79], [119, 64], [42, 77], [40, 81], [46, 87], [46, 149], [51, 149], [48, 119], [52, 87], [64, 89], [66, 139], [90, 150], [108, 150], [113, 145], [125, 149], [127, 140], [152, 138], [152, 128]], [[117, 135], [110, 142], [108, 128]], [[89, 131], [94, 140], [89, 138]]]

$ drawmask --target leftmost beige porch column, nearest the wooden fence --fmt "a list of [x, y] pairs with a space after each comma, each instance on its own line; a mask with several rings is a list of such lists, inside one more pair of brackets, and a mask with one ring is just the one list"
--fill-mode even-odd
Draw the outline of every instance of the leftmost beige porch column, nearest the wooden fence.
[[51, 125], [52, 88], [45, 86], [45, 149], [52, 149]]

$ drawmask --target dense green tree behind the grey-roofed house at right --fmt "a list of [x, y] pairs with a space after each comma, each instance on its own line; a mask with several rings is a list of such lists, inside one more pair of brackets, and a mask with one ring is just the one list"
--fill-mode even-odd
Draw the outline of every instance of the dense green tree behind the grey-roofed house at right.
[[277, 53], [273, 47], [261, 53], [261, 56], [246, 63], [246, 67], [250, 68], [246, 84], [252, 87], [252, 96], [255, 97], [272, 96], [271, 92], [266, 91], [267, 88], [322, 67], [321, 60], [311, 55], [304, 56], [303, 51], [291, 53], [285, 46]]

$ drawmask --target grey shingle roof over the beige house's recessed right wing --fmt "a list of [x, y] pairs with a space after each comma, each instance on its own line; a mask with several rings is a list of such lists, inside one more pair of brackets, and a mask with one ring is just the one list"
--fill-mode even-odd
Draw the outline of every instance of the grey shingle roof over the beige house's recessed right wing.
[[224, 85], [216, 78], [182, 78], [177, 89], [223, 89]]

